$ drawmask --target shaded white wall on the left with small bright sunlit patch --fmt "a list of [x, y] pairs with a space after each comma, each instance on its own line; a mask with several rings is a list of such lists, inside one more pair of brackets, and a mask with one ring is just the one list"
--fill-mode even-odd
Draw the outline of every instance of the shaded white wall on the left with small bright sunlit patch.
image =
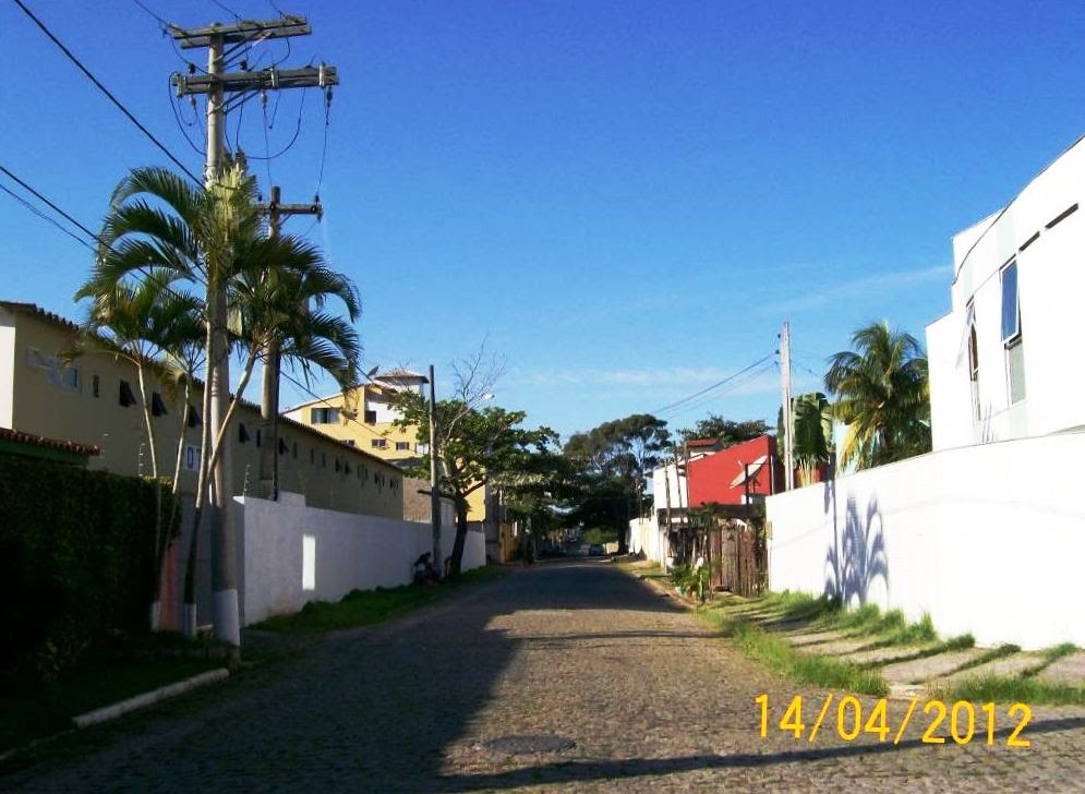
[[[308, 601], [337, 601], [351, 590], [407, 585], [420, 554], [431, 551], [429, 524], [236, 498], [243, 564], [242, 625], [297, 612]], [[443, 557], [456, 530], [442, 531]], [[463, 570], [485, 564], [485, 539], [468, 532]]]

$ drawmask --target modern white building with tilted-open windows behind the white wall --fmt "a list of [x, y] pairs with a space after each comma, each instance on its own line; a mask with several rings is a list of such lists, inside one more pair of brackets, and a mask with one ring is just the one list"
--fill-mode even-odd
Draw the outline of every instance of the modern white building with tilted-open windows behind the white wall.
[[1085, 139], [953, 238], [952, 311], [927, 326], [933, 448], [1085, 425]]

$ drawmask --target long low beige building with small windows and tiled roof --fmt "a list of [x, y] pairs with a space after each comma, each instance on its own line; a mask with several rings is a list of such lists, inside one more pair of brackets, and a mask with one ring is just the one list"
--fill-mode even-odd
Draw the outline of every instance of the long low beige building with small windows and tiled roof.
[[[106, 354], [89, 354], [63, 366], [74, 323], [33, 303], [0, 301], [0, 428], [93, 445], [100, 454], [89, 468], [150, 476], [152, 460], [140, 408], [136, 369]], [[200, 460], [202, 388], [182, 395], [148, 376], [158, 471], [172, 476], [181, 445], [181, 488], [195, 489]], [[262, 443], [260, 408], [243, 402], [229, 431], [231, 482], [237, 495], [256, 495]], [[280, 489], [300, 493], [312, 507], [402, 518], [403, 476], [391, 462], [346, 440], [337, 441], [305, 422], [279, 423]]]

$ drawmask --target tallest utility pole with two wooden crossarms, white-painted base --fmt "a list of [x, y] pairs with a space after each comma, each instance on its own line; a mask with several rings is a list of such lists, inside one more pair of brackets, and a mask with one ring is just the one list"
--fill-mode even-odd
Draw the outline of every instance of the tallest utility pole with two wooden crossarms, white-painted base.
[[[248, 97], [261, 92], [314, 86], [330, 89], [331, 85], [337, 85], [339, 82], [335, 68], [324, 64], [292, 70], [270, 67], [253, 72], [248, 70], [244, 61], [241, 61], [242, 71], [225, 71], [227, 59], [249, 45], [312, 33], [305, 20], [299, 16], [282, 16], [267, 22], [240, 21], [231, 25], [213, 24], [198, 28], [171, 25], [169, 31], [181, 49], [207, 49], [207, 74], [173, 74], [171, 77], [178, 96], [207, 95], [207, 160], [204, 171], [207, 188], [218, 181], [225, 160], [226, 115], [229, 110], [227, 95], [237, 107]], [[213, 537], [212, 589], [215, 603], [215, 636], [230, 645], [240, 646], [237, 538], [230, 509], [233, 490], [230, 477], [232, 473], [230, 444], [226, 435], [219, 440], [230, 401], [229, 338], [226, 328], [229, 306], [224, 273], [207, 274], [207, 308], [209, 334], [206, 388], [210, 400], [208, 434], [213, 442], [224, 445], [212, 472], [213, 492], [209, 510]], [[206, 456], [210, 452], [205, 446], [203, 454]]]

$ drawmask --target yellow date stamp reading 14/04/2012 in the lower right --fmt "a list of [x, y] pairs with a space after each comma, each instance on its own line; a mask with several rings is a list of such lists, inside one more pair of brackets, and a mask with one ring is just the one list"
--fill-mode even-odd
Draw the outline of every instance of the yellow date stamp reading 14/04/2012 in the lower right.
[[[835, 700], [835, 709], [833, 703]], [[1012, 731], [1005, 738], [1006, 747], [1028, 747], [1029, 741], [1022, 736], [1025, 725], [1033, 718], [1033, 710], [1025, 703], [1013, 703], [1000, 711], [993, 702], [981, 703], [978, 707], [967, 700], [957, 700], [949, 705], [942, 700], [927, 700], [923, 707], [919, 698], [912, 698], [907, 711], [897, 724], [889, 715], [889, 703], [885, 698], [876, 701], [873, 708], [864, 712], [863, 701], [854, 695], [845, 695], [839, 700], [833, 695], [827, 695], [817, 709], [811, 709], [807, 717], [816, 712], [813, 722], [804, 720], [803, 696], [796, 695], [783, 709], [782, 713], [772, 713], [768, 695], [758, 695], [754, 700], [760, 708], [760, 735], [768, 738], [770, 730], [791, 734], [796, 741], [806, 738], [813, 742], [823, 730], [835, 726], [836, 735], [845, 742], [855, 742], [860, 736], [877, 736], [879, 742], [888, 742], [892, 736], [893, 744], [900, 744], [908, 725], [915, 721], [923, 730], [923, 744], [966, 745], [973, 741], [984, 742], [988, 746], [994, 744], [996, 723], [1000, 715], [1008, 721]], [[916, 711], [920, 714], [916, 714]], [[828, 724], [825, 724], [828, 722]], [[949, 729], [948, 735], [944, 733]]]

